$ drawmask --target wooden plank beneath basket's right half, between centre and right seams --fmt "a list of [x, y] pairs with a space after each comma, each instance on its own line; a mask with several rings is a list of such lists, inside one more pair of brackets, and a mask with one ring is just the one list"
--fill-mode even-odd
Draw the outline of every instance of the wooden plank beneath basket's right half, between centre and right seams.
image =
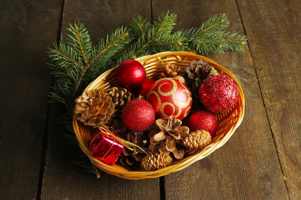
[[[235, 0], [152, 2], [154, 18], [161, 10], [170, 9], [178, 14], [176, 29], [198, 26], [213, 14], [225, 12], [231, 20], [229, 30], [244, 34]], [[252, 28], [256, 22], [248, 25]], [[208, 57], [237, 77], [246, 98], [245, 117], [223, 147], [205, 159], [165, 176], [166, 199], [287, 199], [250, 51], [210, 54]]]

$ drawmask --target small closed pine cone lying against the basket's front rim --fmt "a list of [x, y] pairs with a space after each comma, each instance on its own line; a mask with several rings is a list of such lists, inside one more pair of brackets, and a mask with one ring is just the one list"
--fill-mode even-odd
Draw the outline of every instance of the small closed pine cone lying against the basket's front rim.
[[168, 154], [148, 154], [141, 159], [141, 168], [147, 171], [154, 171], [171, 163], [172, 157]]

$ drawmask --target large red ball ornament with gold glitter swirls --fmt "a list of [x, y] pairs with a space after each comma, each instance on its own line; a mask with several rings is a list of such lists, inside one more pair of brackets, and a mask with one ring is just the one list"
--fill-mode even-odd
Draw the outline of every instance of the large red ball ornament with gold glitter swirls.
[[175, 115], [183, 119], [190, 111], [192, 97], [185, 83], [176, 78], [162, 78], [155, 82], [146, 99], [153, 105], [158, 118]]

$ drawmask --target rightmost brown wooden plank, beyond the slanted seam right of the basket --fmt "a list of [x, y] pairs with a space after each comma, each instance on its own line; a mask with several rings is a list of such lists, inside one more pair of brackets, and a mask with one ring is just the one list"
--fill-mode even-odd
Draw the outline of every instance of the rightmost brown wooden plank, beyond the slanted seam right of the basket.
[[301, 199], [301, 3], [238, 0], [238, 5], [288, 195]]

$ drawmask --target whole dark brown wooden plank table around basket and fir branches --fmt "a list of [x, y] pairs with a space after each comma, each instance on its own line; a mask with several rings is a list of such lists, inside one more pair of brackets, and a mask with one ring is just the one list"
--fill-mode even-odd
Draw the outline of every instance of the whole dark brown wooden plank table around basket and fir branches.
[[[301, 3], [299, 0], [2, 0], [0, 199], [301, 199]], [[238, 78], [242, 124], [208, 157], [161, 178], [97, 179], [81, 167], [49, 104], [47, 47], [85, 23], [96, 43], [141, 13], [170, 9], [176, 29], [225, 12], [245, 52], [209, 54]]]

